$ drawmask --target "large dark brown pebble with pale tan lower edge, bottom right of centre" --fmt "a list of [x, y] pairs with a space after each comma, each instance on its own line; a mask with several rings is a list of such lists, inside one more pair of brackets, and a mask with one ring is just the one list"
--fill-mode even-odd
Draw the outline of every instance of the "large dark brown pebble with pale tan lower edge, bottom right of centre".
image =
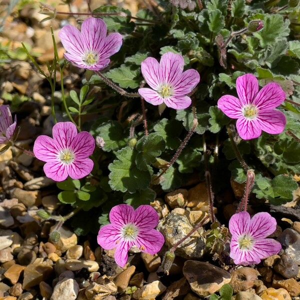
[[200, 297], [206, 297], [229, 283], [231, 275], [227, 271], [208, 262], [187, 260], [183, 265], [183, 275], [190, 288]]

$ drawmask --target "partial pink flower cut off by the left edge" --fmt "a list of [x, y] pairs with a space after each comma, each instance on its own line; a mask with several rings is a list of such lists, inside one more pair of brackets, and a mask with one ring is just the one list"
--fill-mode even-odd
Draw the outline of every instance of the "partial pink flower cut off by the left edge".
[[12, 122], [9, 105], [0, 106], [0, 144], [7, 143], [13, 136], [16, 126], [16, 117]]

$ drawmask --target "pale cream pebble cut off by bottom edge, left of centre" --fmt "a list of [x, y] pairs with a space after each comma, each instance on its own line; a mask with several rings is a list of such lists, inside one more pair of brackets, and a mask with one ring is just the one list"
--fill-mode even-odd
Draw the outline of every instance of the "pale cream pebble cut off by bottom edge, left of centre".
[[72, 278], [65, 278], [56, 283], [50, 300], [75, 300], [78, 292], [78, 283]]

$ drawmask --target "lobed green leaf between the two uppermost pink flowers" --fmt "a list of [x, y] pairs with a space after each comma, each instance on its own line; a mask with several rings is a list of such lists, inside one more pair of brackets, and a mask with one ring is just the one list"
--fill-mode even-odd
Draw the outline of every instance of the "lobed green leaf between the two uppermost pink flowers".
[[133, 67], [133, 65], [122, 64], [120, 67], [111, 69], [105, 75], [113, 82], [119, 84], [122, 88], [136, 88], [139, 86], [140, 80], [138, 78], [140, 69]]

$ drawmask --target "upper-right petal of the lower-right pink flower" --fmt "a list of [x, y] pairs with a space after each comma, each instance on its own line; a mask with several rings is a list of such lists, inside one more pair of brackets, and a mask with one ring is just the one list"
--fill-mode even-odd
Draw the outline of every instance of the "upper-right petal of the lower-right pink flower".
[[250, 221], [249, 234], [253, 238], [265, 238], [276, 230], [276, 220], [267, 212], [254, 214]]

